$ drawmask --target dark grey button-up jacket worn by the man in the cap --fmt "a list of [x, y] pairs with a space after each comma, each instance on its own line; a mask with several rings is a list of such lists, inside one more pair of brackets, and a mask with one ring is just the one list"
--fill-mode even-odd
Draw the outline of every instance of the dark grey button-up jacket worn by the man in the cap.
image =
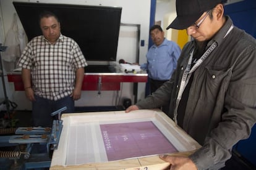
[[[199, 144], [190, 156], [198, 169], [219, 169], [231, 157], [239, 140], [249, 137], [256, 121], [256, 40], [227, 20], [208, 42], [218, 46], [195, 70], [190, 87], [183, 129]], [[224, 38], [224, 36], [226, 37]], [[153, 95], [136, 105], [158, 108], [169, 102], [169, 117], [174, 119], [177, 92], [187, 67], [194, 42], [182, 49], [172, 78]]]

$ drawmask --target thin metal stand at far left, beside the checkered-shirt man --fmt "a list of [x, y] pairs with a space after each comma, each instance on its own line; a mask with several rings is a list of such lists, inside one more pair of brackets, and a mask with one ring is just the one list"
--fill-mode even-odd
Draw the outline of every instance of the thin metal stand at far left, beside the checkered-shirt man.
[[11, 102], [8, 97], [7, 97], [7, 93], [6, 93], [6, 83], [4, 81], [4, 68], [2, 67], [2, 57], [1, 57], [1, 52], [6, 51], [6, 46], [2, 46], [2, 44], [0, 44], [0, 76], [2, 78], [2, 88], [4, 91], [4, 101], [2, 101], [0, 103], [0, 105], [3, 103], [6, 105], [6, 116], [7, 119], [10, 119], [10, 106], [12, 106], [13, 108], [17, 107], [17, 104], [14, 102]]

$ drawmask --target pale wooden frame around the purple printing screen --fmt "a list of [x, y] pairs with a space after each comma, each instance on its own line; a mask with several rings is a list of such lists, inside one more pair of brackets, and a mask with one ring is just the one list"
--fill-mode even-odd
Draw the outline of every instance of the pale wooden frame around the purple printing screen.
[[105, 121], [140, 121], [145, 119], [156, 119], [158, 124], [164, 127], [165, 134], [175, 137], [175, 142], [181, 145], [178, 153], [168, 153], [168, 155], [188, 156], [200, 148], [200, 145], [177, 126], [168, 116], [160, 110], [136, 110], [130, 113], [124, 111], [102, 111], [91, 113], [67, 113], [62, 114], [63, 129], [59, 140], [58, 150], [54, 150], [50, 169], [165, 169], [169, 163], [161, 160], [158, 155], [139, 156], [116, 161], [105, 161], [85, 164], [66, 164], [68, 141], [70, 140], [69, 129], [71, 124], [89, 124], [94, 122], [103, 123]]

